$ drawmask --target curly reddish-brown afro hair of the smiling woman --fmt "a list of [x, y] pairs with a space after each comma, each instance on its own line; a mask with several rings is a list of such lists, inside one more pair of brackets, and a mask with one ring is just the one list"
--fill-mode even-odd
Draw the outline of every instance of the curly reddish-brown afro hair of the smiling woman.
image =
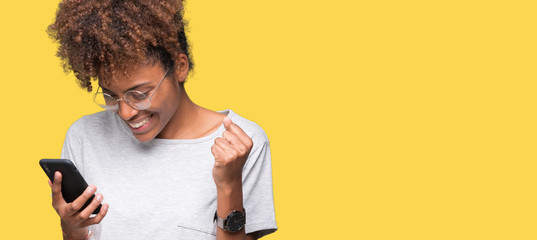
[[128, 76], [129, 66], [148, 59], [177, 71], [185, 54], [191, 70], [185, 25], [182, 0], [64, 0], [47, 33], [59, 43], [64, 70], [91, 91], [100, 71]]

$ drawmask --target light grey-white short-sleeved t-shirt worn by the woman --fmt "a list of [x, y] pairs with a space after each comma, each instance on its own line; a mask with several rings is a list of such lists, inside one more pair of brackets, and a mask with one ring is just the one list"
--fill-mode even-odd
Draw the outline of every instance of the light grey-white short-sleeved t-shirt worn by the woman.
[[[231, 110], [231, 120], [253, 140], [243, 168], [246, 233], [276, 231], [268, 138], [261, 127]], [[215, 239], [216, 185], [211, 146], [218, 130], [198, 139], [139, 142], [119, 116], [103, 111], [69, 128], [62, 158], [70, 159], [110, 205], [90, 230], [95, 239]]]

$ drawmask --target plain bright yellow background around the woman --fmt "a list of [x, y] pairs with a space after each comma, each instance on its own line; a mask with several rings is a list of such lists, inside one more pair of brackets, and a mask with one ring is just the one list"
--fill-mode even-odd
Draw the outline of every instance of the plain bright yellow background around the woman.
[[[57, 3], [0, 8], [2, 239], [60, 238], [38, 160], [99, 111], [45, 33]], [[536, 7], [190, 0], [187, 91], [268, 133], [267, 240], [537, 239]]]

